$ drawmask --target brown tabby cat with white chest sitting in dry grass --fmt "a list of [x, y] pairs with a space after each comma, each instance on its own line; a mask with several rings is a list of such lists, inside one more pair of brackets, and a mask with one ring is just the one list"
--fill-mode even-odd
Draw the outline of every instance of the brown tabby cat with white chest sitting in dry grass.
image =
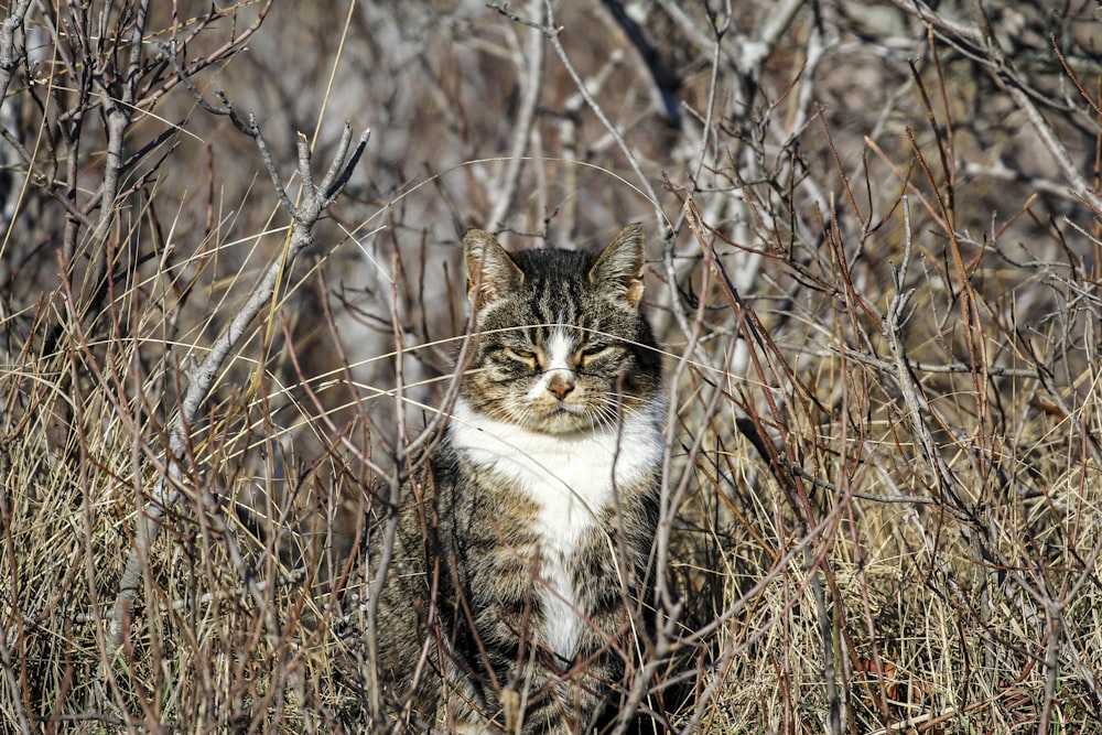
[[638, 225], [596, 256], [464, 238], [474, 357], [379, 598], [410, 728], [565, 735], [618, 712], [663, 457], [645, 245]]

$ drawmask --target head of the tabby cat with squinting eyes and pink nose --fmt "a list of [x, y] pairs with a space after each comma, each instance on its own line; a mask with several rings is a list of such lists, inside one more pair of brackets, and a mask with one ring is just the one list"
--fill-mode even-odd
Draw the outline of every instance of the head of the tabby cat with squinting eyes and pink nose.
[[462, 394], [530, 431], [615, 428], [657, 400], [660, 361], [641, 312], [646, 236], [620, 230], [599, 253], [510, 253], [483, 230], [464, 238], [477, 328]]

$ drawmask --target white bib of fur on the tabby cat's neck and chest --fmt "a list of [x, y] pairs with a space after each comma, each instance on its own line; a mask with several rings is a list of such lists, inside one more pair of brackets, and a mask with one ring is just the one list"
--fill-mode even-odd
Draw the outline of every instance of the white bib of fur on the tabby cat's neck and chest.
[[449, 424], [453, 447], [472, 463], [509, 477], [539, 504], [548, 623], [540, 642], [566, 660], [577, 652], [586, 613], [579, 609], [566, 564], [582, 534], [612, 502], [614, 487], [630, 484], [661, 462], [658, 410], [633, 413], [619, 431], [557, 436], [496, 421], [463, 400], [455, 406]]

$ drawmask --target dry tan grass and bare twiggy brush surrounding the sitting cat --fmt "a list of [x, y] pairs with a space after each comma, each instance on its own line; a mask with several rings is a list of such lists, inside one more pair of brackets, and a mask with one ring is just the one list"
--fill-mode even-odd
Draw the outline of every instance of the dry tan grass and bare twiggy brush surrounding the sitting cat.
[[[514, 245], [652, 233], [682, 607], [639, 694], [669, 732], [1102, 732], [1090, 3], [985, 1], [984, 46], [966, 3], [659, 2], [649, 67], [576, 3], [541, 77], [539, 32], [482, 6], [155, 9], [104, 86], [121, 4], [29, 11], [0, 107], [0, 729], [383, 729], [349, 551], [450, 385], [457, 235], [507, 201]], [[99, 18], [97, 47], [52, 30]], [[292, 198], [294, 130], [320, 179], [333, 120], [374, 129], [194, 413], [290, 217], [156, 66], [173, 28]]]

